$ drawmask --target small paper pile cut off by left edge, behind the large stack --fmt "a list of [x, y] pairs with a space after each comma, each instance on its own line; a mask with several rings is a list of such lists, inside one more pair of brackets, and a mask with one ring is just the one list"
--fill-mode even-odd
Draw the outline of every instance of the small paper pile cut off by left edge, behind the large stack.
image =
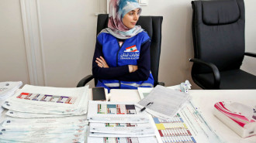
[[[21, 81], [0, 82], [0, 106], [2, 106], [2, 104], [5, 102], [7, 98], [12, 97], [15, 91], [18, 90], [21, 86]], [[0, 114], [2, 114], [2, 111], [4, 111], [4, 108], [0, 107]]]

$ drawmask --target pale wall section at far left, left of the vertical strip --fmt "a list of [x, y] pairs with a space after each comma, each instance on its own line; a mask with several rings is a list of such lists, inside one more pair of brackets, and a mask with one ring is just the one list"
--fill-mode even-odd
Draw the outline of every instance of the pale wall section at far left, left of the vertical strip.
[[29, 83], [19, 1], [0, 1], [0, 82]]

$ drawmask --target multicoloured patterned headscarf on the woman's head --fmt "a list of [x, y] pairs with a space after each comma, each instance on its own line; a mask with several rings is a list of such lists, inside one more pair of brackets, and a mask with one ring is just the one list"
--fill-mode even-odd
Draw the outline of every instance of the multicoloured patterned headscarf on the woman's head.
[[118, 39], [129, 39], [142, 32], [140, 26], [134, 26], [133, 29], [129, 29], [123, 25], [123, 16], [126, 13], [134, 9], [140, 9], [140, 5], [137, 0], [110, 0], [109, 2], [109, 23], [107, 29], [103, 29], [102, 32], [108, 32], [112, 36]]

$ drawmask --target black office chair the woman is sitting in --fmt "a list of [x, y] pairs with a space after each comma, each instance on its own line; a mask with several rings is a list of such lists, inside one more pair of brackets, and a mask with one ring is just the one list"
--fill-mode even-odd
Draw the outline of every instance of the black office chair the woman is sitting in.
[[[162, 26], [163, 17], [162, 16], [140, 16], [140, 19], [137, 22], [137, 25], [141, 26], [147, 32], [148, 36], [151, 39], [150, 45], [150, 63], [151, 63], [151, 73], [154, 77], [154, 87], [157, 84], [164, 86], [164, 83], [158, 82], [158, 70], [159, 70], [159, 60], [161, 53], [161, 26]], [[97, 22], [97, 35], [102, 29], [108, 27], [109, 15], [100, 14], [98, 15]], [[94, 77], [88, 75], [81, 79], [77, 87], [84, 87], [86, 83], [92, 80]], [[95, 78], [95, 86], [98, 82], [98, 79]]]

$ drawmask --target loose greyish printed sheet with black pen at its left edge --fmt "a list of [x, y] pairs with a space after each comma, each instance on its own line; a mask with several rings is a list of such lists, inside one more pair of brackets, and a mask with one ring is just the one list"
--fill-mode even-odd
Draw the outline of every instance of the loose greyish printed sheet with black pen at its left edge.
[[156, 117], [168, 119], [175, 116], [190, 99], [189, 94], [157, 85], [147, 97], [135, 105], [140, 108], [146, 107], [146, 111]]

